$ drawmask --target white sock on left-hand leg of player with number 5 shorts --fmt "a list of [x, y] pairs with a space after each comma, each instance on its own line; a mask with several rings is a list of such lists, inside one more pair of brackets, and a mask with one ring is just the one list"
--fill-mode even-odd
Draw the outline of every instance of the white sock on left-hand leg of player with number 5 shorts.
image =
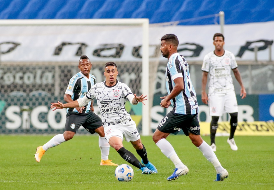
[[185, 167], [183, 162], [180, 160], [180, 158], [176, 154], [172, 145], [165, 138], [162, 138], [160, 141], [158, 141], [156, 145], [160, 148], [162, 153], [173, 162], [173, 164], [175, 165], [175, 168], [183, 169]]

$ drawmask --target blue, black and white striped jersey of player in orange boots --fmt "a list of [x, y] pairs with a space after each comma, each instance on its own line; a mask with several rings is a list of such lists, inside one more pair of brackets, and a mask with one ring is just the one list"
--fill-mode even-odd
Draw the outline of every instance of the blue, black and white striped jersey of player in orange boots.
[[[82, 98], [86, 96], [86, 93], [89, 91], [91, 86], [95, 83], [95, 77], [92, 74], [89, 74], [89, 79], [82, 73], [78, 72], [73, 77], [71, 77], [68, 87], [66, 89], [65, 94], [71, 95], [71, 99], [73, 101], [77, 100], [78, 98]], [[91, 101], [85, 105], [85, 109], [82, 110], [82, 114], [89, 113], [91, 106]], [[76, 108], [68, 108], [67, 111], [77, 111]]]

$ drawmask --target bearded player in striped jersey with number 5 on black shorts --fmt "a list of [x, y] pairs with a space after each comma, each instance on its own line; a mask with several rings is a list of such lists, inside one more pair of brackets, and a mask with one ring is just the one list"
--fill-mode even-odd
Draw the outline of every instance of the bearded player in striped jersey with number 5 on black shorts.
[[166, 71], [168, 95], [161, 97], [163, 100], [160, 104], [164, 108], [172, 104], [173, 110], [162, 119], [152, 138], [162, 153], [175, 165], [174, 172], [167, 178], [168, 181], [188, 173], [188, 167], [183, 164], [172, 145], [166, 140], [169, 134], [176, 135], [181, 129], [213, 164], [217, 172], [216, 181], [223, 181], [228, 177], [228, 172], [221, 166], [210, 146], [201, 138], [196, 93], [190, 79], [188, 63], [177, 52], [178, 45], [179, 40], [174, 34], [166, 34], [161, 38], [161, 53], [163, 57], [168, 58]]

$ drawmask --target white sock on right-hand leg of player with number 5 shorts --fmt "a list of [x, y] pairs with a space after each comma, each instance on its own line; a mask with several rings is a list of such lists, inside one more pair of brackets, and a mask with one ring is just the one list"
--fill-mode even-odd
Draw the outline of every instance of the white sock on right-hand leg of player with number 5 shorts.
[[206, 159], [213, 164], [217, 173], [221, 173], [224, 168], [221, 166], [221, 163], [219, 162], [212, 148], [205, 141], [203, 141], [203, 143], [198, 148], [201, 150]]

